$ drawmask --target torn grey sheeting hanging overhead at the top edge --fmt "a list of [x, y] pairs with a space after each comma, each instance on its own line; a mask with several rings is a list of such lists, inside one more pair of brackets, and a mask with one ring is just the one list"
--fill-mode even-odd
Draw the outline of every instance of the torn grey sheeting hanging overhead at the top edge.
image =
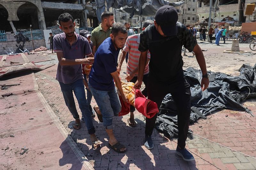
[[[179, 2], [168, 2], [165, 0], [106, 0], [107, 10], [110, 7], [115, 8], [120, 12], [129, 13], [133, 15], [143, 15], [143, 16], [154, 16], [156, 11], [164, 5], [172, 5], [174, 7], [184, 4], [184, 1]], [[103, 8], [105, 10], [105, 0], [96, 0], [97, 4], [97, 18], [101, 22], [101, 13]]]

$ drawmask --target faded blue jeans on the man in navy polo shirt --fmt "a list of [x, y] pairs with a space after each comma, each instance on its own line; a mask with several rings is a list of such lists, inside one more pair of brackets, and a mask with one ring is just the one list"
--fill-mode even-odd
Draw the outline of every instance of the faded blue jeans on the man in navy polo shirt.
[[113, 129], [112, 120], [121, 111], [121, 103], [117, 95], [116, 88], [111, 91], [101, 91], [94, 89], [90, 84], [89, 88], [100, 108], [103, 117], [103, 125], [106, 129]]

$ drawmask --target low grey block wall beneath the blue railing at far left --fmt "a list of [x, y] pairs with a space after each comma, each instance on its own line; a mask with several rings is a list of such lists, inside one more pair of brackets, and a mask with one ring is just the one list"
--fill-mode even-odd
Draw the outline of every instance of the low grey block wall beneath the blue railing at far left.
[[[18, 48], [17, 46], [19, 46], [20, 44], [22, 45], [22, 43], [23, 43], [23, 42], [20, 42], [18, 44], [16, 42], [16, 38], [14, 38], [14, 34], [12, 34], [11, 32], [6, 32], [6, 38], [7, 38], [7, 41], [0, 42], [0, 55], [6, 54], [6, 52], [4, 50], [6, 50], [9, 53], [10, 51], [9, 51], [8, 47], [10, 49], [13, 49], [15, 52], [16, 49]], [[44, 39], [43, 40], [34, 40], [34, 46], [35, 46], [35, 48], [39, 48], [40, 46], [46, 47]], [[24, 49], [25, 48], [27, 48], [28, 50], [34, 50], [33, 42], [26, 41]]]

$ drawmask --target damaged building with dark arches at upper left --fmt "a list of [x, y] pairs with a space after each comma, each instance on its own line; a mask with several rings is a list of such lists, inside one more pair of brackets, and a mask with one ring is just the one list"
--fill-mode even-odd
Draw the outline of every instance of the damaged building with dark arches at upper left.
[[45, 30], [56, 25], [61, 13], [68, 12], [81, 27], [96, 27], [96, 3], [92, 0], [0, 0], [1, 26], [5, 32], [28, 29]]

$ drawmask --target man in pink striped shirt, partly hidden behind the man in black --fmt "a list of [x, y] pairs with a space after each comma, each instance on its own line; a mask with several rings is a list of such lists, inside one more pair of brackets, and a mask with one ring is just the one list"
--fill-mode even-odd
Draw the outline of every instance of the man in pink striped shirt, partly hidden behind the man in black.
[[[154, 21], [147, 20], [143, 24], [143, 30], [151, 25], [154, 24]], [[127, 82], [133, 82], [135, 83], [138, 78], [138, 65], [139, 65], [139, 58], [140, 58], [140, 51], [138, 50], [140, 44], [140, 34], [130, 35], [128, 36], [123, 53], [120, 56], [119, 63], [117, 66], [117, 70], [121, 71], [122, 64], [125, 59], [125, 55], [127, 52], [129, 52], [127, 67], [126, 67], [126, 74], [127, 77], [125, 78]], [[150, 60], [150, 52], [148, 52], [148, 59], [147, 59], [147, 65], [144, 70], [144, 76], [143, 76], [143, 83], [145, 84], [145, 89], [142, 91], [142, 94], [147, 97], [148, 96], [148, 62]], [[130, 106], [130, 118], [127, 120], [129, 123], [129, 126], [133, 127], [136, 126], [137, 122], [134, 120], [134, 114], [135, 108], [131, 105]]]

